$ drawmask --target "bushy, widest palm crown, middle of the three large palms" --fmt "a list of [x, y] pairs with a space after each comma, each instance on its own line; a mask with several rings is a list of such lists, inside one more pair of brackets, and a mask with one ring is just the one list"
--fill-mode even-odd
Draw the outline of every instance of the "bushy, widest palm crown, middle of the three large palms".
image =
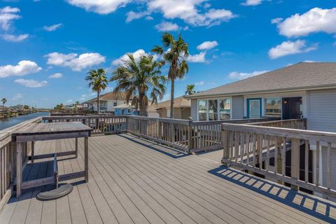
[[133, 55], [127, 55], [123, 64], [113, 71], [111, 81], [117, 82], [113, 92], [125, 92], [127, 104], [132, 98], [132, 106], [139, 107], [140, 116], [146, 116], [148, 99], [157, 104], [165, 94], [167, 78], [161, 75], [161, 66], [152, 55], [141, 55], [139, 61]]

